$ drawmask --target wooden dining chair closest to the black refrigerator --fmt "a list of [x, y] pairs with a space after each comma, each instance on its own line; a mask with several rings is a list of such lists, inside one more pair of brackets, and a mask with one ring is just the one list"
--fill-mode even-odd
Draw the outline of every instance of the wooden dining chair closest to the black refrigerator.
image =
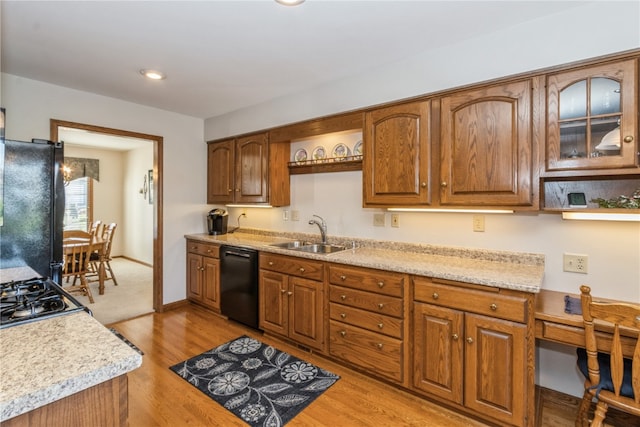
[[[87, 281], [89, 258], [93, 252], [93, 238], [91, 233], [80, 230], [63, 232], [62, 247], [64, 253], [64, 265], [62, 278], [73, 277], [71, 286], [64, 289], [69, 293], [82, 293], [93, 303], [93, 295]], [[76, 286], [76, 279], [80, 279], [80, 285]]]

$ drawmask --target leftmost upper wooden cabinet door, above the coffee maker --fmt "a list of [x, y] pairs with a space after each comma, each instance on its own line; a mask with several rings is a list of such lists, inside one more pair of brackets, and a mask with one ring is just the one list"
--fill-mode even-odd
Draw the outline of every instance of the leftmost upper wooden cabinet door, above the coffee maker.
[[235, 141], [207, 147], [207, 203], [231, 203], [234, 196]]

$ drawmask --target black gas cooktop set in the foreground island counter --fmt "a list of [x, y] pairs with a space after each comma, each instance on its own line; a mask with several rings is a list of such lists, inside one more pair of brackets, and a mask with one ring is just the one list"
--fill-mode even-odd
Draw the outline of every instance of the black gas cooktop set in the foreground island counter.
[[46, 277], [0, 283], [0, 328], [91, 311]]

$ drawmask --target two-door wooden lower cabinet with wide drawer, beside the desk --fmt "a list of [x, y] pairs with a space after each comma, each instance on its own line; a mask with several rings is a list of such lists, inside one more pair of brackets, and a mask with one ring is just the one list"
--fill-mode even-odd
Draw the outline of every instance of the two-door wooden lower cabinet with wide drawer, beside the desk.
[[413, 388], [494, 422], [533, 425], [531, 297], [427, 278], [414, 285]]

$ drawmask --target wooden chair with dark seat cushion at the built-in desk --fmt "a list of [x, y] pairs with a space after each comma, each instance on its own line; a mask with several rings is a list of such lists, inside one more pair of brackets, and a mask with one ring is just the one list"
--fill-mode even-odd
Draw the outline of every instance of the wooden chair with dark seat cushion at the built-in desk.
[[[623, 358], [620, 341], [621, 327], [640, 333], [640, 305], [597, 302], [588, 286], [581, 286], [580, 291], [586, 349], [578, 349], [578, 367], [586, 380], [576, 427], [602, 426], [609, 406], [640, 416], [640, 339], [636, 337], [631, 359]], [[598, 348], [594, 319], [613, 325], [610, 351]], [[588, 424], [587, 412], [594, 398], [594, 419]]]

